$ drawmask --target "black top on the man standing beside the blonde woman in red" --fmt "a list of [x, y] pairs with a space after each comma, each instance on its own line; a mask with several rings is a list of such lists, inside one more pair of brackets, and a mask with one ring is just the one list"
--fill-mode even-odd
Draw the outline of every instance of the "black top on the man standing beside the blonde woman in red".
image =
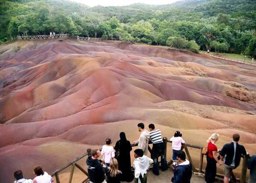
[[[241, 154], [246, 155], [245, 148], [236, 143], [235, 167], [238, 167], [240, 164]], [[234, 157], [234, 143], [226, 143], [221, 149], [220, 155], [224, 157], [224, 163], [230, 166]]]

